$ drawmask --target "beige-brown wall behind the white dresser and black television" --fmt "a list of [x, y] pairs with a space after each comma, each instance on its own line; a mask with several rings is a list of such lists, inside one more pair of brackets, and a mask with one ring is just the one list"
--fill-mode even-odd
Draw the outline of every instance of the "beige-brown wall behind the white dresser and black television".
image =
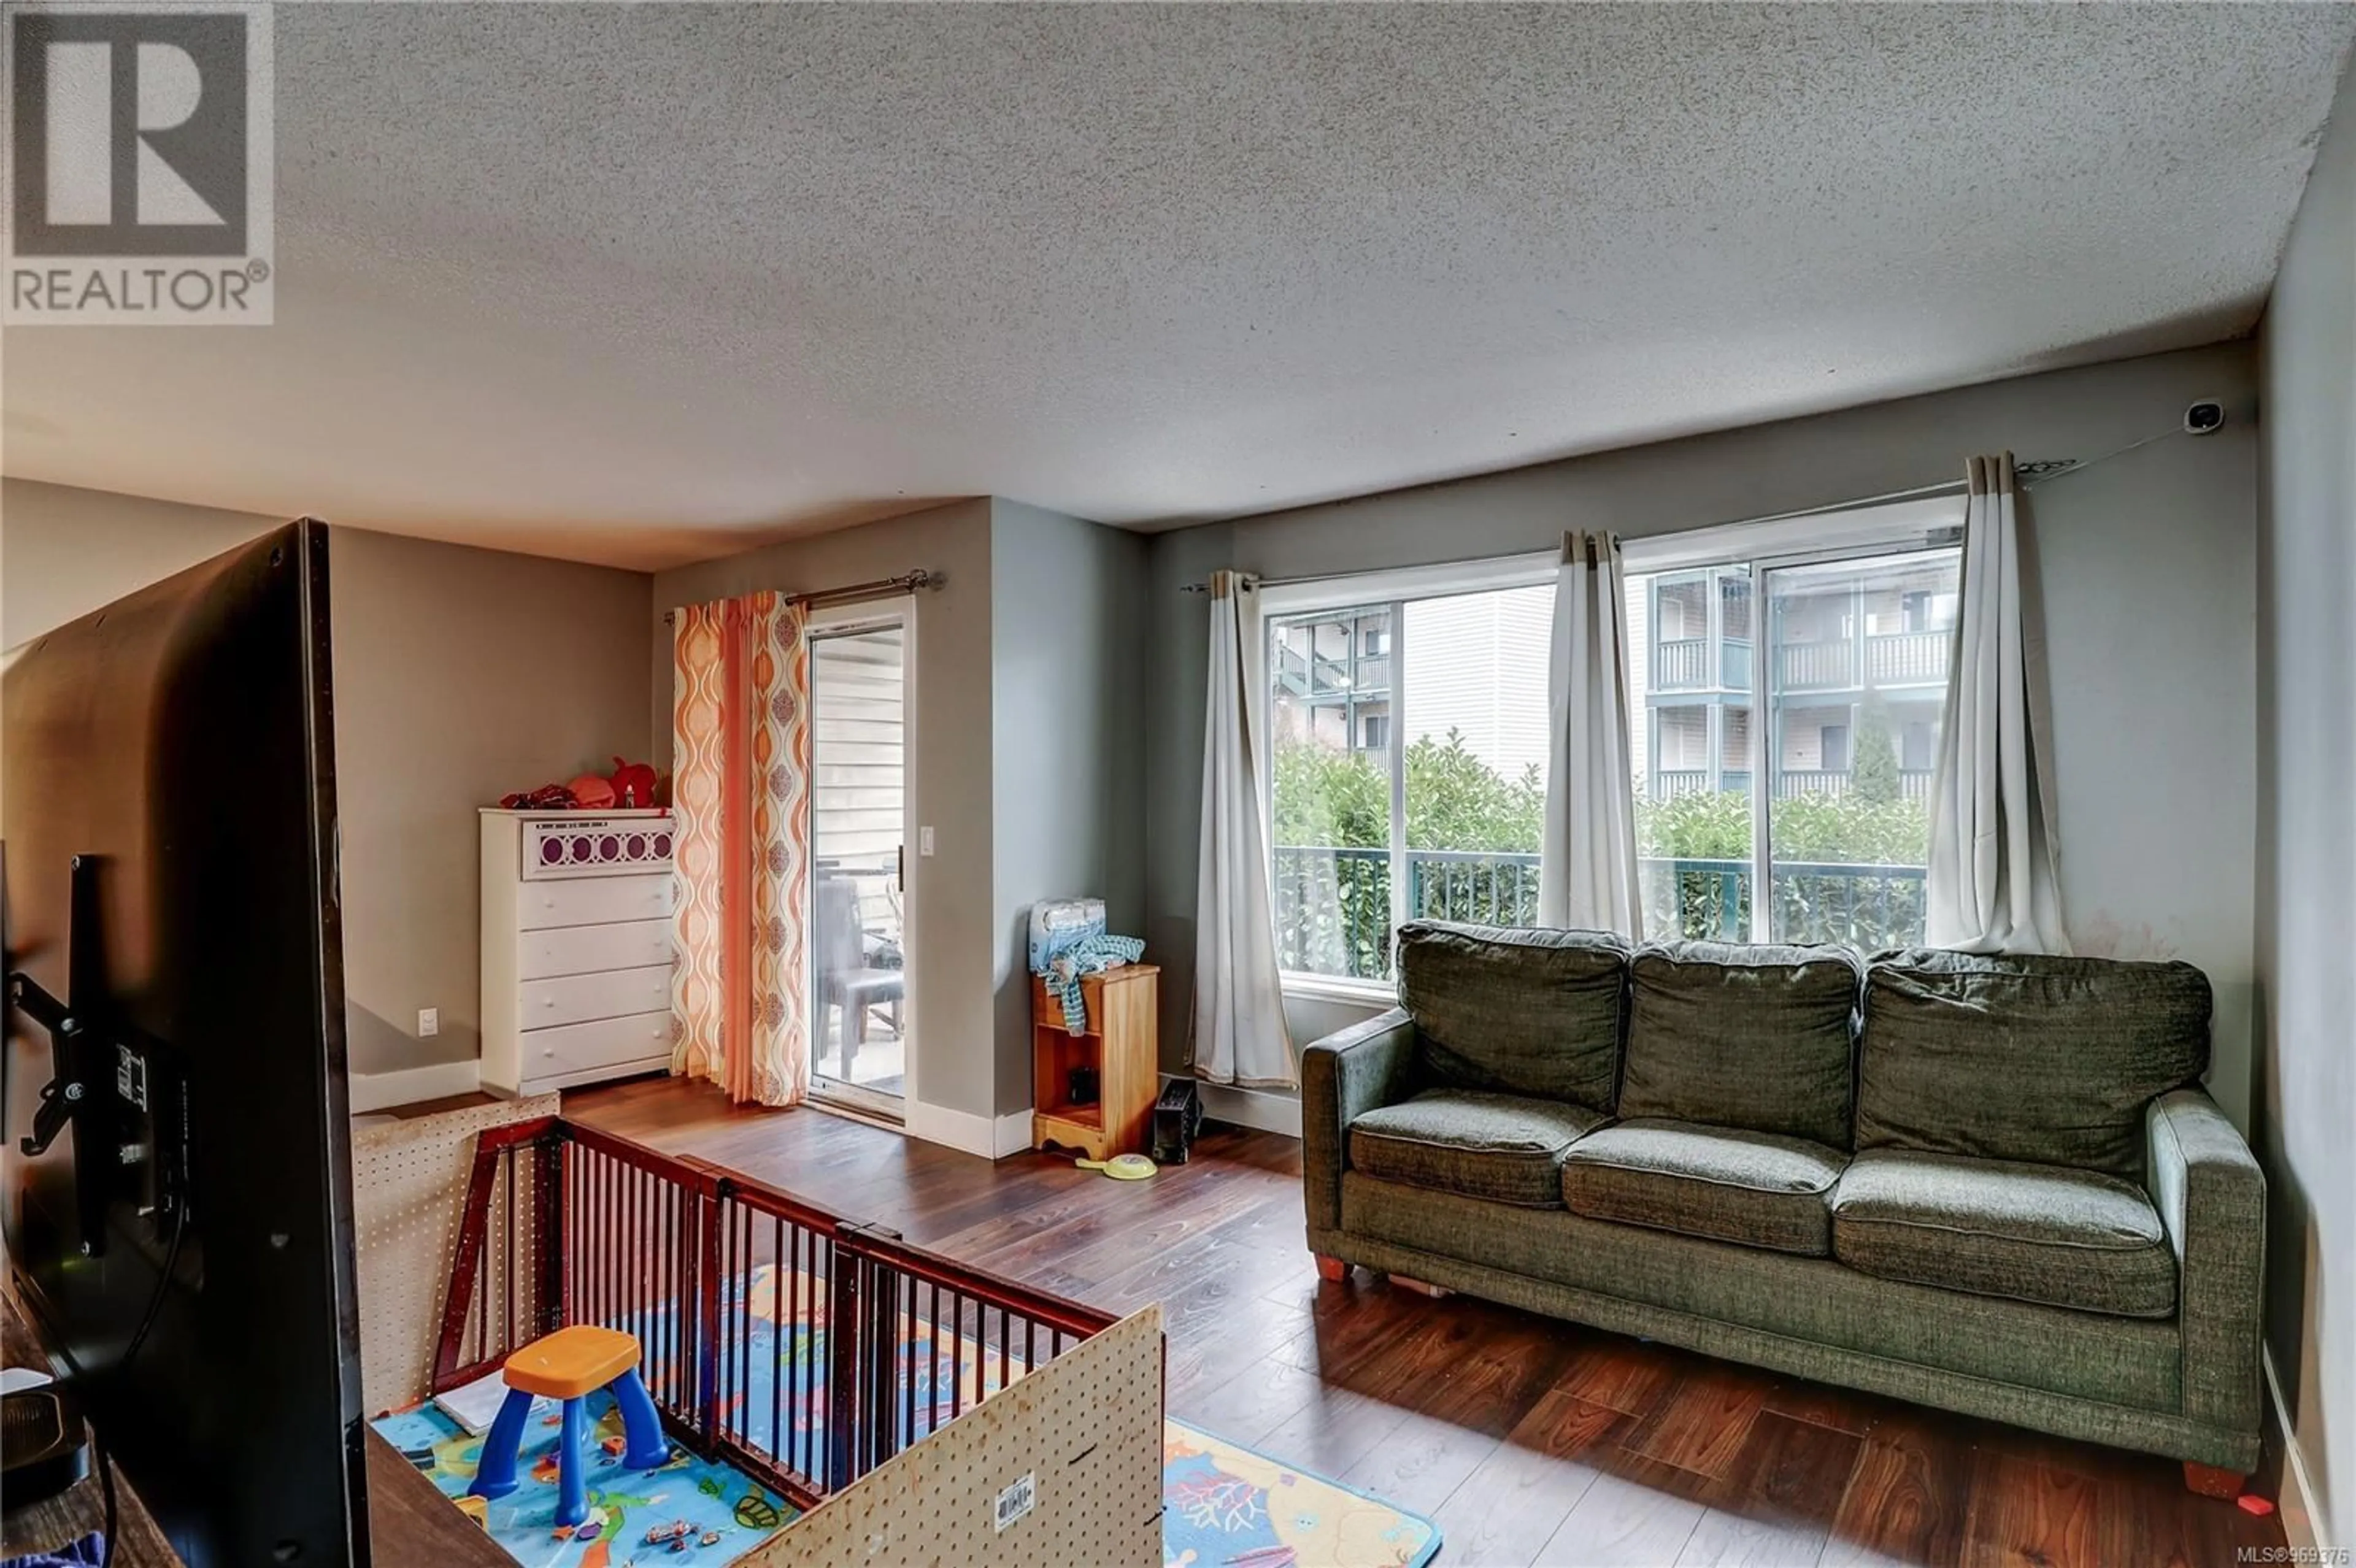
[[[5, 480], [0, 645], [280, 518]], [[351, 1071], [481, 1043], [476, 808], [650, 749], [648, 577], [339, 527], [327, 542]], [[417, 1038], [417, 1010], [441, 1034]]]

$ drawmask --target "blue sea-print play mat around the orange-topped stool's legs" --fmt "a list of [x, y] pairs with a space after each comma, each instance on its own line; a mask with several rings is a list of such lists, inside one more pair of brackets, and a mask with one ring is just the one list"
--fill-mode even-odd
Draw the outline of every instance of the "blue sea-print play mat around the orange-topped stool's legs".
[[[589, 1519], [556, 1530], [556, 1401], [532, 1401], [516, 1460], [521, 1486], [507, 1497], [466, 1497], [483, 1439], [431, 1403], [379, 1415], [377, 1431], [398, 1448], [452, 1504], [464, 1509], [499, 1547], [530, 1568], [622, 1568], [695, 1563], [721, 1568], [799, 1519], [768, 1488], [730, 1464], [707, 1464], [683, 1448], [657, 1469], [624, 1469], [622, 1415], [610, 1394], [589, 1394]], [[683, 1542], [674, 1549], [674, 1540]]]

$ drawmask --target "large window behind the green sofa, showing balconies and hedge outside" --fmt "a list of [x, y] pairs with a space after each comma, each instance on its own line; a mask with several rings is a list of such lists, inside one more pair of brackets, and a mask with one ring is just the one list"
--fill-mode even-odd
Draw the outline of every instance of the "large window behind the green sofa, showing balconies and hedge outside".
[[[1647, 937], [1922, 942], [1960, 579], [1925, 544], [1944, 516], [1779, 525], [1748, 558], [1715, 534], [1630, 546]], [[1517, 560], [1350, 591], [1265, 605], [1275, 925], [1296, 982], [1376, 986], [1402, 921], [1538, 918], [1555, 589]]]

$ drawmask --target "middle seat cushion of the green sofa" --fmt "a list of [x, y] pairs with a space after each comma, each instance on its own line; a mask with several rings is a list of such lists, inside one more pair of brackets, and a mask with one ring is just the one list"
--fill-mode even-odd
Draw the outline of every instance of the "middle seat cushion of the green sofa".
[[1623, 1121], [1562, 1156], [1562, 1205], [1588, 1220], [1826, 1257], [1833, 1250], [1826, 1194], [1847, 1161], [1840, 1149], [1802, 1137]]

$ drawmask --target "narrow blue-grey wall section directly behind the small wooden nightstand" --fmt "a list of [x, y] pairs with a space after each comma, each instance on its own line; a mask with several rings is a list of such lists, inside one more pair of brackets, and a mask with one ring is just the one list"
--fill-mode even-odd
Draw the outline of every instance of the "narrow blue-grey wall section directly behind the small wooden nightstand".
[[1001, 1116], [1032, 1104], [1030, 906], [1093, 892], [1114, 932], [1145, 918], [1145, 553], [1138, 534], [990, 504]]

